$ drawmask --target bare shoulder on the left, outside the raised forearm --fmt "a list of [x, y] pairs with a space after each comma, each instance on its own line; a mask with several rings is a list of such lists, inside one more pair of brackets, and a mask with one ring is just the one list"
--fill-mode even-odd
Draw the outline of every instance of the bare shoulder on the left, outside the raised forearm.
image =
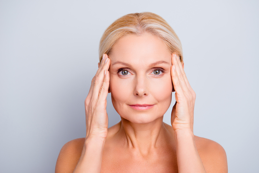
[[67, 142], [58, 155], [55, 173], [73, 172], [80, 159], [85, 138], [78, 138]]

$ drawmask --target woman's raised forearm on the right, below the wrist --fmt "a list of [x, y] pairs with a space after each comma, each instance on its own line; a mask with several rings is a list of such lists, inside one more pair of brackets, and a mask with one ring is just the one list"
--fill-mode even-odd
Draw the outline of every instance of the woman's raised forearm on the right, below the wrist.
[[178, 130], [174, 133], [179, 173], [199, 172], [205, 169], [197, 151], [194, 134], [191, 129]]

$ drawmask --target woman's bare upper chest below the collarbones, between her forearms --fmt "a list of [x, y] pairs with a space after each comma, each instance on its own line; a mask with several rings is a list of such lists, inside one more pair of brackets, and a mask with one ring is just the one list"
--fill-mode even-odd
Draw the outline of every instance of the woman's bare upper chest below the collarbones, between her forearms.
[[107, 172], [178, 172], [176, 153], [162, 151], [146, 157], [138, 157], [123, 151], [104, 152], [101, 173]]

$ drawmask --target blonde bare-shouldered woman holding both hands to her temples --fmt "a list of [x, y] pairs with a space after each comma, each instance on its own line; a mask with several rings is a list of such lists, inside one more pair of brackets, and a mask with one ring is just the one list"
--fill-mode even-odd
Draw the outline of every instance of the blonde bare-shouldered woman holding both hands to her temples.
[[[66, 143], [59, 172], [227, 172], [226, 153], [194, 136], [195, 92], [184, 73], [180, 40], [160, 16], [116, 20], [100, 41], [100, 62], [85, 99], [86, 137]], [[171, 125], [163, 123], [172, 92]], [[106, 97], [121, 121], [108, 129]]]

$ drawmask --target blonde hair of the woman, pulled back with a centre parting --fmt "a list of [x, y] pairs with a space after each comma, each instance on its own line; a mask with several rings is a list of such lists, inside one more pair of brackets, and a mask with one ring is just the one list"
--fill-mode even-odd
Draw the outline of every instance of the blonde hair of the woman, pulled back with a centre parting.
[[111, 53], [113, 45], [129, 34], [150, 33], [165, 42], [171, 53], [177, 53], [182, 61], [182, 44], [171, 26], [159, 15], [151, 12], [132, 13], [115, 20], [103, 33], [99, 46], [99, 60]]

